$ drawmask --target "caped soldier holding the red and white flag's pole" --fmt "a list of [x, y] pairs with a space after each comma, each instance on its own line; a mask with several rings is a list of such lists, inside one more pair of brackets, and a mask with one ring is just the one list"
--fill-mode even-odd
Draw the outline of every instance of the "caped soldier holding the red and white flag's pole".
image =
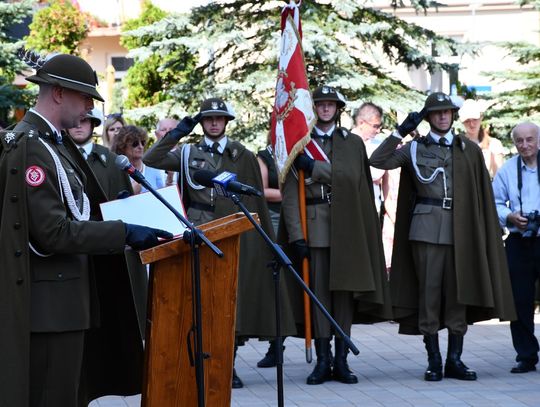
[[[334, 87], [313, 91], [317, 123], [311, 133], [324, 160], [297, 157], [283, 186], [282, 225], [298, 263], [310, 260], [310, 283], [345, 334], [353, 323], [391, 318], [390, 291], [374, 205], [373, 183], [362, 139], [338, 126], [345, 98]], [[299, 216], [298, 177], [305, 172], [307, 242]], [[307, 384], [327, 380], [358, 382], [348, 366], [348, 348], [334, 336], [324, 315], [315, 310], [313, 328], [317, 364]], [[332, 360], [333, 359], [333, 360]]]

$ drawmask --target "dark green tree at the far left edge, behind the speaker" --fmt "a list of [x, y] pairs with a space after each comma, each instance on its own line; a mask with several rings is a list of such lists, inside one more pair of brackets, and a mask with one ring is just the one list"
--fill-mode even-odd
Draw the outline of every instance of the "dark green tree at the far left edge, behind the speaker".
[[9, 34], [9, 28], [30, 15], [32, 0], [18, 3], [0, 3], [0, 119], [6, 120], [14, 107], [26, 107], [31, 93], [12, 85], [15, 75], [24, 69], [24, 64], [16, 56], [22, 45]]

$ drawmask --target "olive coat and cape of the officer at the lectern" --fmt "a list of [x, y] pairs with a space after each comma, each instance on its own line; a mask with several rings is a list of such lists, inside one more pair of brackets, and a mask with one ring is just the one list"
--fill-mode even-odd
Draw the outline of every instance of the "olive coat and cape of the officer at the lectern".
[[142, 341], [133, 301], [123, 302], [127, 277], [94, 273], [85, 254], [122, 252], [124, 225], [74, 219], [42, 141], [59, 157], [75, 199], [84, 188], [95, 206], [92, 196], [103, 194], [71, 140], [55, 143], [39, 116], [29, 112], [0, 134], [0, 405], [28, 405], [31, 331], [87, 330], [81, 401], [138, 393]]

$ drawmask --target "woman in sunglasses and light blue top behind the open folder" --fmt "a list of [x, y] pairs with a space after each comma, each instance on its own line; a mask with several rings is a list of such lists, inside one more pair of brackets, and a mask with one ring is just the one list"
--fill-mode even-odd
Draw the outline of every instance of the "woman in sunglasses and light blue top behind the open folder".
[[[137, 168], [146, 180], [155, 189], [163, 188], [163, 174], [157, 168], [147, 167], [142, 162], [144, 147], [148, 141], [146, 131], [138, 126], [127, 125], [122, 127], [113, 138], [111, 151], [120, 155], [125, 155], [131, 164]], [[135, 181], [131, 181], [135, 194], [146, 192], [147, 189]]]

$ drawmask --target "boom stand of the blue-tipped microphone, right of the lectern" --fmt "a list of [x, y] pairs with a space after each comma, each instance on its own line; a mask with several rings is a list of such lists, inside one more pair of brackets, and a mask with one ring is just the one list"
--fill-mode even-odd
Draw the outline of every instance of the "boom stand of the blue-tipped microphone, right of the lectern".
[[292, 261], [287, 257], [285, 252], [281, 249], [281, 247], [272, 241], [270, 237], [266, 234], [266, 232], [263, 230], [263, 228], [253, 219], [253, 216], [251, 216], [251, 213], [247, 210], [246, 206], [242, 203], [238, 195], [234, 193], [229, 192], [229, 196], [232, 199], [232, 201], [240, 208], [240, 210], [246, 215], [246, 217], [249, 219], [249, 221], [253, 224], [257, 232], [262, 236], [266, 244], [270, 247], [272, 252], [274, 253], [274, 262], [272, 264], [272, 274], [274, 277], [274, 291], [275, 291], [275, 314], [276, 314], [276, 375], [277, 375], [277, 391], [278, 391], [278, 406], [283, 407], [285, 404], [284, 396], [283, 396], [283, 339], [281, 337], [281, 306], [280, 306], [280, 290], [279, 290], [279, 281], [280, 281], [280, 268], [284, 267], [288, 269], [291, 274], [294, 276], [296, 281], [302, 286], [302, 289], [309, 295], [311, 300], [314, 302], [314, 304], [319, 308], [319, 310], [324, 314], [325, 318], [330, 322], [330, 324], [334, 327], [334, 329], [339, 333], [339, 335], [343, 338], [351, 352], [355, 355], [358, 355], [360, 351], [358, 348], [352, 343], [351, 338], [349, 338], [347, 335], [345, 335], [345, 332], [343, 332], [343, 329], [339, 326], [339, 324], [332, 318], [330, 313], [327, 311], [327, 309], [322, 305], [322, 303], [319, 301], [319, 299], [316, 297], [315, 294], [313, 294], [313, 291], [310, 290], [310, 288], [304, 283], [304, 280], [300, 278], [300, 275], [296, 272], [294, 267], [292, 266]]

